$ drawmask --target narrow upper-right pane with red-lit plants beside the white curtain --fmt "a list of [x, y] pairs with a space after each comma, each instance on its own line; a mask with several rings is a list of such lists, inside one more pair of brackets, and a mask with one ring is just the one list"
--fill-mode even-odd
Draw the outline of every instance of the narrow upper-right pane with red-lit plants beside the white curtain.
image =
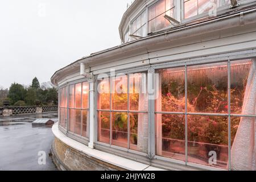
[[[232, 61], [231, 63], [231, 112], [233, 114], [247, 114], [242, 113], [242, 107], [243, 102], [246, 101], [246, 89], [248, 93], [250, 90], [250, 84], [247, 84], [247, 81], [252, 69], [251, 65], [251, 60]], [[251, 70], [251, 76], [253, 76], [253, 70]]]

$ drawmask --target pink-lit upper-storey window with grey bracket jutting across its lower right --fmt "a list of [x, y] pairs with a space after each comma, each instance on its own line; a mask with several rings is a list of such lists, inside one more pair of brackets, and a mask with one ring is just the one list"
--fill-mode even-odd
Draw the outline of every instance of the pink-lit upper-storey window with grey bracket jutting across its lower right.
[[174, 0], [160, 0], [148, 8], [148, 32], [154, 32], [171, 25], [165, 15], [174, 18]]

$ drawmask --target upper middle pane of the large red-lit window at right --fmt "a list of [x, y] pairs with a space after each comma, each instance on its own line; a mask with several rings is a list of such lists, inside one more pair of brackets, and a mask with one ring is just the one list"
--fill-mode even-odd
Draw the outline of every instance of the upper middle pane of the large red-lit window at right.
[[228, 113], [227, 63], [188, 67], [188, 112]]

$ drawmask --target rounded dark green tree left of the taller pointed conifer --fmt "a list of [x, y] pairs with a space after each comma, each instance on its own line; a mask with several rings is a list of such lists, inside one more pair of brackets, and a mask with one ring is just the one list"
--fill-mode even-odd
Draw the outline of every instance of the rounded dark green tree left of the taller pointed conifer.
[[18, 101], [24, 101], [26, 97], [26, 89], [23, 85], [20, 84], [11, 84], [11, 87], [9, 89], [8, 97], [11, 100], [11, 105], [13, 105], [15, 102]]

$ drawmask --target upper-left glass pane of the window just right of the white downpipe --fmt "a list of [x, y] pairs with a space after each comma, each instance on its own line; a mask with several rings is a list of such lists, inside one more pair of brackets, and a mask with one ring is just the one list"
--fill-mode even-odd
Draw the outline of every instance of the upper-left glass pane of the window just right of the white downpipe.
[[110, 110], [110, 86], [109, 80], [98, 83], [98, 109]]

